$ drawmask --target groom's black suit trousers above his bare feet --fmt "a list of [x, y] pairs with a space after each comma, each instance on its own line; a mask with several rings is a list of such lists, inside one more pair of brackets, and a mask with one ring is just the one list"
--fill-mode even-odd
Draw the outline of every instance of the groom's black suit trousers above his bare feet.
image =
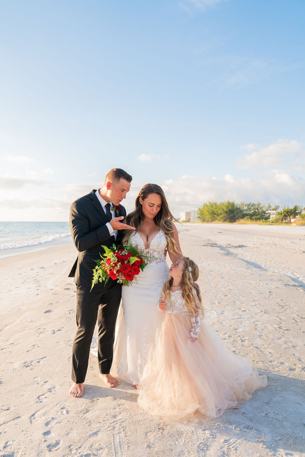
[[76, 285], [77, 332], [72, 348], [72, 381], [83, 383], [88, 368], [90, 345], [98, 323], [98, 365], [100, 372], [110, 372], [113, 359], [115, 324], [121, 301], [122, 285], [109, 279], [106, 286]]

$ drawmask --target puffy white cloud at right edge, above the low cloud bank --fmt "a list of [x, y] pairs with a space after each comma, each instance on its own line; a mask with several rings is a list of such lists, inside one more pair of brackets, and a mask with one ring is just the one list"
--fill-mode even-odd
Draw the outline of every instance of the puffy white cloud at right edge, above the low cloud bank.
[[279, 139], [276, 143], [256, 151], [251, 152], [238, 160], [236, 165], [241, 169], [253, 168], [295, 168], [297, 161], [298, 167], [304, 166], [305, 151], [301, 143], [292, 140]]

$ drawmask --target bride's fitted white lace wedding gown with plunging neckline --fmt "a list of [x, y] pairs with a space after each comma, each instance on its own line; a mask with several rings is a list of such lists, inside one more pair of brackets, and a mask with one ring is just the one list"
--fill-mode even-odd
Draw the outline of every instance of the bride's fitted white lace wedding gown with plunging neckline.
[[[131, 242], [145, 250], [138, 233]], [[118, 333], [110, 373], [132, 384], [138, 384], [151, 346], [161, 313], [156, 309], [164, 283], [169, 279], [164, 250], [166, 237], [160, 230], [151, 240], [146, 253], [154, 256], [129, 287], [122, 287], [122, 302], [118, 315]]]

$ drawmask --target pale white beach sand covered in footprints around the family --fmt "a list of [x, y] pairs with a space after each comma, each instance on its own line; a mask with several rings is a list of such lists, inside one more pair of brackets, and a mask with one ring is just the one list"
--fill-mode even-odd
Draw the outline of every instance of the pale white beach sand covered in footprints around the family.
[[[179, 226], [178, 226], [179, 228]], [[305, 227], [184, 224], [206, 319], [269, 385], [215, 420], [168, 423], [134, 388], [102, 385], [90, 356], [86, 391], [72, 399], [73, 246], [0, 260], [0, 456], [305, 455]]]

